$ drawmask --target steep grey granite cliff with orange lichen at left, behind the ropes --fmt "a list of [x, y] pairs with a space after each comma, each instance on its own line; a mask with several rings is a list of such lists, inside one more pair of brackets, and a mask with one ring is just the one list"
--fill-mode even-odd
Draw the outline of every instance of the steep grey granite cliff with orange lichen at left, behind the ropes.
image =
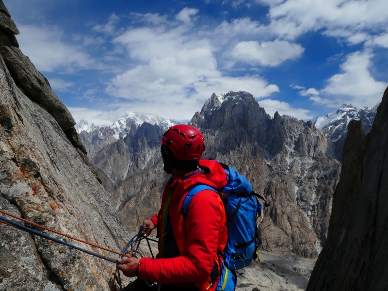
[[[129, 233], [98, 181], [71, 114], [18, 48], [17, 33], [0, 0], [0, 208], [120, 250]], [[1, 290], [112, 290], [111, 262], [4, 224], [0, 238]]]

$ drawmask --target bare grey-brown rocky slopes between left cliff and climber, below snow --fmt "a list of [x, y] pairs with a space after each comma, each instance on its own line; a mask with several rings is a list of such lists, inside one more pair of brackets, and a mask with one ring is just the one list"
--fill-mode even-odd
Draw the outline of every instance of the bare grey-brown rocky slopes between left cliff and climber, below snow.
[[102, 148], [92, 160], [131, 231], [160, 209], [163, 186], [169, 178], [163, 172], [160, 153], [163, 130], [143, 123], [134, 136]]

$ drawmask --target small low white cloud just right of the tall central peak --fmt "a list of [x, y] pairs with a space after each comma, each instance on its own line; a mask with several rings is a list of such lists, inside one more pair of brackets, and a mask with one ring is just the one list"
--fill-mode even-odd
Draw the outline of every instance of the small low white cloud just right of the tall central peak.
[[263, 107], [265, 112], [271, 116], [274, 116], [275, 112], [277, 111], [280, 115], [286, 114], [303, 120], [311, 119], [314, 117], [309, 110], [303, 108], [292, 108], [289, 103], [284, 101], [264, 99], [259, 101], [259, 105], [260, 107]]

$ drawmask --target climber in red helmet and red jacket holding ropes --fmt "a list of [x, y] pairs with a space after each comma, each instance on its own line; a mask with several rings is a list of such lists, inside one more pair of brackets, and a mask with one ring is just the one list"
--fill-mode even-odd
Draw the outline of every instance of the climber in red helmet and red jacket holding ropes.
[[138, 278], [125, 291], [158, 290], [148, 282], [162, 283], [160, 290], [214, 291], [220, 279], [220, 252], [227, 241], [225, 208], [216, 192], [196, 194], [187, 216], [179, 210], [189, 189], [206, 184], [215, 189], [226, 185], [224, 169], [216, 161], [200, 160], [204, 151], [202, 133], [189, 125], [175, 125], [162, 137], [163, 170], [171, 174], [162, 195], [161, 210], [143, 222], [149, 235], [157, 228], [156, 259], [118, 259], [117, 269]]

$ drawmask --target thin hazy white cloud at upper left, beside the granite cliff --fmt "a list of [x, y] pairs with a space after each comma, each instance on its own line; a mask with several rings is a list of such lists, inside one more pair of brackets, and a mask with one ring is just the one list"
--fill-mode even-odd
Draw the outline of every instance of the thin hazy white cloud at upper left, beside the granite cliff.
[[62, 40], [63, 32], [52, 26], [18, 25], [20, 49], [44, 72], [97, 68], [100, 65], [81, 47]]

